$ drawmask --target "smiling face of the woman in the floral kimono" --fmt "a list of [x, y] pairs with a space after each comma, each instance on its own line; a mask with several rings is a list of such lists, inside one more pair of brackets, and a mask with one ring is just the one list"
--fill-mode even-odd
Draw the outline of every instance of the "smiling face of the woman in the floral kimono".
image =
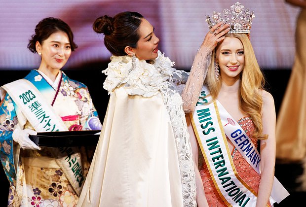
[[59, 31], [51, 34], [42, 44], [36, 43], [36, 50], [41, 53], [39, 69], [59, 70], [64, 67], [71, 55], [69, 37], [65, 32]]

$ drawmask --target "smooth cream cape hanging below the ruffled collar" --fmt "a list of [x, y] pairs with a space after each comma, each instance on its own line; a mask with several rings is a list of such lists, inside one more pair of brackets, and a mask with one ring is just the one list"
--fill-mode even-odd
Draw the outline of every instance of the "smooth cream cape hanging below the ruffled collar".
[[110, 96], [78, 207], [183, 207], [179, 158], [160, 92]]

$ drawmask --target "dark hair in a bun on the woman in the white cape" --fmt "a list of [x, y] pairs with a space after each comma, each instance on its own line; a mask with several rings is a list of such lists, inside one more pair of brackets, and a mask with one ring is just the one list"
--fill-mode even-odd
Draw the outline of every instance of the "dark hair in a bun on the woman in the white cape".
[[118, 13], [114, 18], [104, 15], [95, 20], [93, 30], [105, 35], [104, 44], [113, 55], [123, 56], [126, 55], [126, 46], [137, 47], [139, 26], [143, 18], [140, 13], [131, 11]]

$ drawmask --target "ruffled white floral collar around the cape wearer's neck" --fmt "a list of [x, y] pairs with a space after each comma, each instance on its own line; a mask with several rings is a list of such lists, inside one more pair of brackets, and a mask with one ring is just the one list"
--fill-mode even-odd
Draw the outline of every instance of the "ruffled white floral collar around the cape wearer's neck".
[[103, 84], [109, 94], [118, 86], [123, 85], [127, 94], [152, 97], [164, 86], [164, 82], [173, 75], [174, 62], [158, 50], [158, 57], [153, 64], [136, 58], [136, 67], [132, 70], [132, 58], [112, 56], [109, 67], [102, 72], [107, 75]]

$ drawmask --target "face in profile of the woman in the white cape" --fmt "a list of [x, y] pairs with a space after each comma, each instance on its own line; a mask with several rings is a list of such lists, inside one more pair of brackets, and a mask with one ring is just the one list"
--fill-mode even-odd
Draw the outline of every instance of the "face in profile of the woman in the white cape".
[[159, 39], [154, 34], [154, 28], [146, 19], [142, 19], [139, 26], [140, 39], [133, 52], [139, 60], [153, 60], [157, 58]]

